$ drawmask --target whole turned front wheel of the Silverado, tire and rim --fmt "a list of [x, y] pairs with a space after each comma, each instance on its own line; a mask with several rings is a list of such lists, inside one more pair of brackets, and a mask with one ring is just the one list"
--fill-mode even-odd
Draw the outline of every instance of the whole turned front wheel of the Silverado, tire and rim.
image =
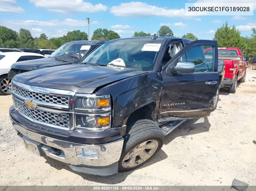
[[118, 171], [134, 170], [152, 158], [163, 146], [165, 134], [151, 120], [141, 119], [127, 126]]

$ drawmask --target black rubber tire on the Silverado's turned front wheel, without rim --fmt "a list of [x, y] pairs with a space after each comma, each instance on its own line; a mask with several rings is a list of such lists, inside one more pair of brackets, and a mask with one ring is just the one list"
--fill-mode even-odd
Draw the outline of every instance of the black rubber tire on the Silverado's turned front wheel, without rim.
[[[154, 140], [158, 143], [157, 149], [154, 153], [146, 159], [141, 164], [135, 164], [135, 167], [123, 167], [122, 162], [125, 156], [132, 150], [135, 149], [138, 145], [143, 142]], [[123, 145], [123, 150], [121, 157], [118, 162], [118, 172], [127, 172], [130, 170], [134, 170], [141, 165], [145, 164], [150, 158], [152, 158], [163, 146], [165, 140], [165, 134], [161, 131], [161, 129], [151, 120], [148, 119], [140, 119], [136, 121], [134, 124], [128, 125], [126, 129], [126, 135]], [[149, 142], [151, 143], [151, 142]], [[150, 150], [150, 149], [145, 149]], [[136, 162], [135, 162], [136, 163]]]

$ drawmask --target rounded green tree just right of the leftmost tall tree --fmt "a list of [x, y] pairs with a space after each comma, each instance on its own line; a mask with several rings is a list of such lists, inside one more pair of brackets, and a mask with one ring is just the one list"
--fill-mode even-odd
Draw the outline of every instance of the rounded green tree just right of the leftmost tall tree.
[[19, 30], [17, 44], [20, 48], [33, 48], [33, 38], [29, 30], [21, 28]]

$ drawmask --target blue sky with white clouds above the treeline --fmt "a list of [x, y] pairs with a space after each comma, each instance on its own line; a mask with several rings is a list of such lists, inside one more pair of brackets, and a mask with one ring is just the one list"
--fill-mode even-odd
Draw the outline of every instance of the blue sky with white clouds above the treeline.
[[[221, 2], [254, 3], [253, 16], [185, 16], [185, 3]], [[156, 33], [162, 25], [176, 36], [193, 33], [199, 39], [211, 40], [226, 21], [235, 25], [242, 36], [256, 28], [256, 0], [0, 0], [0, 25], [18, 31], [25, 28], [33, 37], [45, 33], [48, 38], [61, 37], [71, 30], [88, 33], [97, 28], [114, 30], [121, 38], [134, 31]]]

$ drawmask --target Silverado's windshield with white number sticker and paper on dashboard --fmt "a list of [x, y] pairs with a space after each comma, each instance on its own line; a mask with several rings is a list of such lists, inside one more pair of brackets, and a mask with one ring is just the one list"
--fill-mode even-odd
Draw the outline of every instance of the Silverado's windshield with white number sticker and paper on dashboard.
[[161, 43], [155, 41], [109, 41], [95, 49], [81, 63], [111, 64], [119, 59], [128, 68], [152, 71], [160, 46]]

